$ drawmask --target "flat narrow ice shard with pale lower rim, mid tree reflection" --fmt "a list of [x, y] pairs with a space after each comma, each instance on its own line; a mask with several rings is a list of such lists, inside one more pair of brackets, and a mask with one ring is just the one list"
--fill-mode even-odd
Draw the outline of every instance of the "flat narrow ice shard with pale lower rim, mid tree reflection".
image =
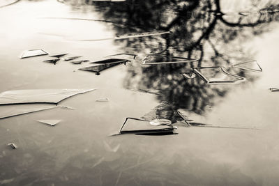
[[183, 58], [178, 56], [166, 56], [159, 54], [149, 54], [143, 61], [143, 65], [158, 65], [158, 64], [169, 64], [169, 63], [189, 63], [195, 62], [196, 59]]

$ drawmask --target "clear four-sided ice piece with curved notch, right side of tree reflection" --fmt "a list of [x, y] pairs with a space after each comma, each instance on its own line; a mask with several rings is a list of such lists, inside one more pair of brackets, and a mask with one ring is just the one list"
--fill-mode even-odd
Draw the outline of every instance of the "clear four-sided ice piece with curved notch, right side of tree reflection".
[[233, 84], [245, 80], [244, 77], [230, 74], [223, 67], [218, 66], [193, 68], [193, 72], [201, 77], [206, 84]]

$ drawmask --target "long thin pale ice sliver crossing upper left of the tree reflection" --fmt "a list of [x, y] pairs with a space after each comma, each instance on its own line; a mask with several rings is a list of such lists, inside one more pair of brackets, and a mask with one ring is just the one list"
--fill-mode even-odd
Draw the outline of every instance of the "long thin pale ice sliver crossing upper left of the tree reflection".
[[160, 36], [163, 34], [170, 33], [170, 31], [151, 31], [151, 32], [144, 32], [144, 33], [135, 33], [130, 35], [123, 35], [123, 36], [116, 36], [114, 38], [103, 38], [103, 39], [89, 39], [89, 40], [80, 40], [80, 41], [97, 41], [97, 40], [123, 40], [127, 38], [141, 38], [147, 36]]

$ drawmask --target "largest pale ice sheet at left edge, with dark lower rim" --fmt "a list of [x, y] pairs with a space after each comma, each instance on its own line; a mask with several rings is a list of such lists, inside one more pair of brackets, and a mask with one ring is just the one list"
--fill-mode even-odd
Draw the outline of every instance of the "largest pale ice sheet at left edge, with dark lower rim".
[[95, 89], [31, 89], [0, 93], [0, 104], [54, 103]]

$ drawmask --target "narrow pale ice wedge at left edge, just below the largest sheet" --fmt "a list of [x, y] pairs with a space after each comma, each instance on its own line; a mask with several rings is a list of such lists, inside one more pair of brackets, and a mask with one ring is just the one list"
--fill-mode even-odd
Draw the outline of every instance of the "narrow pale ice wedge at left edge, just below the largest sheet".
[[18, 104], [18, 105], [2, 105], [0, 106], [0, 119], [20, 116], [36, 111], [44, 111], [53, 109], [56, 106], [49, 104]]

